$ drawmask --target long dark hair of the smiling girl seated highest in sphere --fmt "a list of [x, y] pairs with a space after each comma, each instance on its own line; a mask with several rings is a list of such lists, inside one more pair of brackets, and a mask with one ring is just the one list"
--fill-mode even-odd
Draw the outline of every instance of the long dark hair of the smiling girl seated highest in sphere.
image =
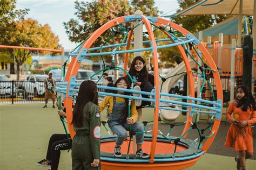
[[[140, 70], [140, 72], [137, 72], [136, 69], [134, 68], [135, 67], [135, 62], [137, 60], [140, 60], [143, 62], [144, 64], [144, 67], [142, 70]], [[144, 81], [147, 82], [148, 81], [148, 78], [149, 78], [149, 75], [147, 73], [147, 67], [146, 67], [146, 64], [145, 64], [145, 60], [141, 57], [141, 56], [136, 56], [133, 60], [132, 60], [132, 64], [131, 64], [131, 68], [129, 70], [129, 74], [131, 76], [135, 75], [135, 74], [140, 74], [143, 78], [144, 78]]]

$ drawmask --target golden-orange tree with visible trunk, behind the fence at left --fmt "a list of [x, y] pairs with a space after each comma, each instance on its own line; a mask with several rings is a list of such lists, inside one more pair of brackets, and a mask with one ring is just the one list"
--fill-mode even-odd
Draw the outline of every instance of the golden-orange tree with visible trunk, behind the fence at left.
[[[15, 22], [16, 30], [10, 32], [11, 39], [8, 45], [24, 46], [35, 48], [51, 48], [59, 49], [59, 38], [56, 36], [48, 24], [41, 25], [34, 19], [22, 19]], [[15, 58], [15, 65], [17, 66], [17, 80], [19, 80], [20, 67], [23, 63], [31, 62], [31, 54], [39, 53], [41, 55], [49, 54], [51, 52], [32, 51], [15, 49], [10, 51]], [[54, 53], [53, 55], [57, 55]]]

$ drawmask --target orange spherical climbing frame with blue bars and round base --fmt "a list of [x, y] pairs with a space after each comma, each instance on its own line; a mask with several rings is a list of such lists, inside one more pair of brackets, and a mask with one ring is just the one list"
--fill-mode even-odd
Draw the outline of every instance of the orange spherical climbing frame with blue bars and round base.
[[[130, 49], [131, 39], [133, 35], [133, 27], [136, 27], [134, 24], [135, 21], [139, 21], [139, 24], [145, 26], [145, 30], [147, 30], [148, 34], [148, 42], [150, 43], [150, 47], [143, 49]], [[125, 30], [125, 26], [130, 24], [130, 27]], [[77, 86], [75, 83], [75, 77], [82, 62], [84, 56], [95, 56], [101, 55], [100, 53], [92, 53], [93, 49], [91, 48], [92, 44], [107, 30], [110, 30], [112, 27], [119, 26], [121, 29], [124, 28], [124, 31], [127, 37], [126, 41], [126, 50], [117, 51], [116, 49], [112, 52], [104, 52], [100, 51], [102, 55], [110, 55], [112, 54], [124, 54], [124, 70], [127, 70], [127, 60], [129, 53], [133, 53], [136, 51], [151, 51], [153, 68], [154, 68], [154, 119], [153, 119], [153, 127], [152, 134], [145, 135], [145, 144], [143, 146], [144, 150], [147, 153], [150, 153], [149, 159], [137, 159], [134, 155], [132, 155], [132, 149], [130, 150], [129, 157], [122, 158], [114, 158], [113, 157], [113, 146], [114, 139], [113, 136], [102, 137], [101, 140], [101, 166], [102, 169], [183, 169], [194, 165], [197, 160], [201, 158], [201, 156], [208, 150], [211, 146], [215, 135], [217, 134], [220, 118], [221, 118], [221, 108], [223, 101], [223, 91], [221, 87], [220, 76], [218, 73], [218, 69], [215, 66], [214, 61], [211, 58], [211, 55], [207, 52], [206, 48], [194, 37], [190, 32], [185, 30], [183, 27], [170, 22], [169, 20], [157, 18], [157, 17], [147, 17], [147, 16], [123, 16], [113, 20], [110, 20], [103, 26], [101, 26], [98, 30], [93, 32], [89, 38], [87, 38], [81, 45], [78, 46], [76, 51], [70, 53], [72, 56], [71, 62], [69, 64], [68, 72], [66, 73], [65, 80], [67, 86], [65, 91], [65, 107], [67, 112], [67, 122], [69, 126], [69, 132], [71, 137], [75, 136], [75, 131], [73, 131], [72, 121], [72, 90], [74, 86]], [[154, 32], [152, 27], [157, 27], [160, 31], [162, 31], [169, 39], [170, 44], [167, 45], [157, 45], [157, 40], [154, 37]], [[174, 36], [174, 34], [178, 34], [179, 36]], [[166, 41], [166, 40], [164, 40]], [[194, 96], [194, 82], [193, 82], [193, 73], [191, 70], [190, 62], [188, 60], [188, 53], [186, 49], [187, 44], [192, 44], [197, 47], [197, 49], [201, 52], [201, 56], [204, 57], [205, 63], [207, 65], [200, 65], [198, 63], [198, 68], [201, 70], [201, 76], [206, 77], [205, 71], [211, 71], [212, 79], [214, 79], [215, 83], [215, 91], [217, 93], [217, 98], [214, 101], [209, 101], [209, 105], [199, 105], [196, 102], [206, 102], [207, 100], [203, 100], [201, 98], [197, 98]], [[117, 45], [118, 46], [118, 45]], [[121, 45], [120, 45], [121, 46]], [[118, 46], [119, 47], [119, 46]], [[180, 55], [183, 57], [183, 61], [186, 67], [187, 79], [190, 84], [190, 96], [185, 96], [188, 102], [186, 103], [188, 107], [188, 116], [187, 121], [185, 123], [185, 127], [183, 130], [183, 134], [180, 138], [169, 139], [166, 136], [159, 136], [158, 134], [162, 134], [158, 129], [158, 119], [159, 119], [159, 109], [161, 109], [159, 102], [164, 101], [164, 99], [160, 98], [160, 84], [159, 84], [159, 71], [158, 71], [158, 49], [161, 48], [169, 48], [176, 47], [180, 52]], [[96, 47], [94, 47], [96, 49]], [[97, 48], [100, 49], [102, 47]], [[198, 59], [200, 60], [200, 59]], [[196, 62], [196, 61], [195, 61]], [[206, 80], [205, 80], [206, 81]], [[204, 81], [203, 81], [204, 83]], [[202, 88], [203, 89], [203, 88]], [[100, 94], [100, 93], [99, 93]], [[169, 94], [161, 94], [161, 96]], [[170, 96], [170, 95], [169, 95]], [[182, 98], [182, 97], [181, 97]], [[216, 102], [215, 102], [216, 101]], [[172, 101], [174, 104], [180, 104], [179, 101]], [[184, 104], [184, 103], [182, 103]], [[200, 107], [201, 106], [201, 107]], [[196, 115], [194, 113], [207, 112], [202, 111], [201, 109], [211, 109], [211, 112], [214, 115], [214, 122], [211, 125], [211, 131], [208, 136], [200, 135], [200, 143], [191, 139], [187, 139], [187, 133], [189, 130], [197, 129], [196, 123], [193, 123], [193, 116]], [[208, 112], [207, 112], [208, 113]], [[205, 143], [202, 144], [201, 141], [205, 140]], [[125, 141], [122, 146], [122, 153], [125, 153], [127, 148], [129, 147], [128, 141]]]

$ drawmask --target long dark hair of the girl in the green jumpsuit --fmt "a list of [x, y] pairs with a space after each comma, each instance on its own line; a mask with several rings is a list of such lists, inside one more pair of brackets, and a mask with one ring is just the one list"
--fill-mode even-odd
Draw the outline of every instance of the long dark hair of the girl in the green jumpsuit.
[[97, 86], [96, 83], [91, 80], [83, 81], [78, 91], [72, 119], [72, 124], [78, 128], [83, 126], [83, 110], [85, 104], [88, 102], [98, 105]]

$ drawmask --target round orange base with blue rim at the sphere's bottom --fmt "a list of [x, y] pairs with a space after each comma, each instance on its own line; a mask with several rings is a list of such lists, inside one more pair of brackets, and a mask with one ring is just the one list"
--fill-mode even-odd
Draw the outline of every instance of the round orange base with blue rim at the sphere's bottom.
[[[100, 160], [103, 169], [183, 169], [194, 165], [204, 153], [202, 150], [197, 150], [199, 145], [197, 141], [181, 139], [174, 154], [175, 144], [158, 136], [153, 163], [150, 163], [150, 159], [138, 158], [133, 154], [132, 140], [129, 154], [127, 154], [129, 140], [126, 140], [121, 149], [122, 157], [115, 158], [113, 155], [115, 139], [116, 136], [105, 136], [101, 139]], [[143, 150], [150, 154], [152, 137], [145, 135], [144, 140]]]

